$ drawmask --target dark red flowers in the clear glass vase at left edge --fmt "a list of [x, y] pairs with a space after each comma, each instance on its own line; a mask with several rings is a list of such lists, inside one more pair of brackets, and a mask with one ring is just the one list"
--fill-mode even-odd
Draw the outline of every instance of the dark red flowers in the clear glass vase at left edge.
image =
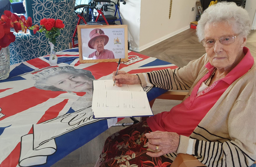
[[15, 41], [15, 36], [10, 28], [13, 27], [16, 32], [24, 27], [24, 31], [27, 28], [33, 30], [34, 34], [39, 30], [38, 25], [32, 26], [32, 19], [28, 17], [27, 20], [24, 16], [18, 17], [10, 11], [4, 11], [4, 15], [1, 16], [0, 20], [0, 50], [10, 45], [11, 42]]

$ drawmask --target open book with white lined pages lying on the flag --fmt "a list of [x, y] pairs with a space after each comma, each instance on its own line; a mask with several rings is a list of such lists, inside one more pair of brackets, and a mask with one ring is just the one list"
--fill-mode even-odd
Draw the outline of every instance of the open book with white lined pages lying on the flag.
[[141, 85], [113, 86], [112, 80], [93, 81], [94, 118], [152, 116], [147, 93]]

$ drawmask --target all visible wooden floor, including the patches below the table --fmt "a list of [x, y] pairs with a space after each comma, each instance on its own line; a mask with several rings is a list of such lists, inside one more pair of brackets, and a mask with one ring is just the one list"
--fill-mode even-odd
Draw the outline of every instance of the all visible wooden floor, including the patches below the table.
[[[246, 45], [256, 60], [256, 30], [251, 31]], [[186, 66], [188, 62], [200, 58], [205, 49], [197, 41], [194, 29], [188, 29], [178, 35], [172, 36], [148, 49], [139, 52], [150, 57], [155, 57], [167, 62], [171, 62], [179, 67]], [[156, 100], [153, 105], [153, 113], [169, 111], [173, 106], [181, 101]], [[125, 118], [122, 122], [131, 122], [130, 118]], [[101, 151], [105, 139], [123, 127], [111, 127], [95, 139], [70, 153], [53, 167], [94, 167]]]

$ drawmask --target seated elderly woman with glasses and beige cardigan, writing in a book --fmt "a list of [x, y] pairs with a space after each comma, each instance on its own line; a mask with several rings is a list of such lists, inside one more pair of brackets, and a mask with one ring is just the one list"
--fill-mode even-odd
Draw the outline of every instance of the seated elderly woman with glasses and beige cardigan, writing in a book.
[[196, 31], [206, 54], [187, 66], [113, 75], [117, 86], [189, 92], [171, 111], [111, 135], [100, 166], [169, 166], [179, 153], [191, 154], [206, 166], [254, 163], [256, 67], [245, 47], [248, 13], [233, 2], [220, 2], [204, 11]]

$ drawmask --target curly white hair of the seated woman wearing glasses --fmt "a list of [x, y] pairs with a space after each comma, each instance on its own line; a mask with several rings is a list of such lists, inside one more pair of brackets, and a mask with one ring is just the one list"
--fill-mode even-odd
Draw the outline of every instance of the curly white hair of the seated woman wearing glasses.
[[248, 12], [234, 2], [218, 2], [209, 6], [201, 15], [196, 27], [199, 41], [204, 39], [204, 28], [207, 23], [227, 22], [232, 25], [234, 33], [247, 36], [250, 33], [250, 18]]

